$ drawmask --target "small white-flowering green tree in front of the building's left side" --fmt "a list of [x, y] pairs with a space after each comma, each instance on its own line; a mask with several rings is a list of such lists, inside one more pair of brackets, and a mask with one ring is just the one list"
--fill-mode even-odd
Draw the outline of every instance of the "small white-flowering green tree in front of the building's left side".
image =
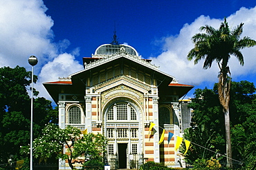
[[[42, 136], [36, 138], [33, 145], [36, 158], [47, 160], [53, 154], [57, 154], [56, 158], [68, 160], [71, 169], [74, 168], [75, 162], [84, 163], [90, 160], [103, 162], [107, 151], [107, 139], [102, 134], [82, 134], [76, 127], [68, 126], [60, 129], [53, 123], [49, 123], [42, 130]], [[65, 152], [64, 146], [67, 149]]]

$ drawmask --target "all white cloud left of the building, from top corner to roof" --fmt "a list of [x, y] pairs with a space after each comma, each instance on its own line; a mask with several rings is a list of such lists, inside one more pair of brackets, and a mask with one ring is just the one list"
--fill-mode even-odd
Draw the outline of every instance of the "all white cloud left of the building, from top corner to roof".
[[71, 54], [62, 54], [70, 42], [53, 43], [53, 20], [46, 10], [42, 0], [0, 1], [0, 67], [19, 65], [30, 71], [28, 57], [37, 56], [35, 88], [39, 96], [51, 100], [42, 83], [82, 70], [82, 65], [74, 57], [79, 55], [78, 47]]

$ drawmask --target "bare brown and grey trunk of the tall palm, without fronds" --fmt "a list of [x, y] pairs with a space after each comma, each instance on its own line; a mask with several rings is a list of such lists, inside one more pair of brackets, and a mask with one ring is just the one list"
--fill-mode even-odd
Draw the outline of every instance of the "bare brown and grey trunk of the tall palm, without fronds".
[[[227, 68], [227, 67], [226, 67]], [[227, 167], [232, 167], [232, 147], [231, 147], [231, 136], [230, 136], [230, 115], [229, 115], [229, 101], [230, 101], [230, 85], [231, 80], [228, 81], [228, 71], [226, 70], [219, 75], [219, 101], [223, 106], [223, 114], [225, 118], [225, 130], [226, 130], [226, 156], [227, 156]]]

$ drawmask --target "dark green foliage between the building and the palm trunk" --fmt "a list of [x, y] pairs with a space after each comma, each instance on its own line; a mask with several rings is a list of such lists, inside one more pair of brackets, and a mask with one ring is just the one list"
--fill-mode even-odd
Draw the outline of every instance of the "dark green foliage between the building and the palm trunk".
[[[183, 137], [197, 145], [192, 145], [193, 147], [186, 153], [186, 162], [193, 164], [198, 158], [209, 160], [216, 154], [212, 151], [224, 154], [223, 131], [225, 129], [223, 128], [223, 114], [216, 90], [196, 89], [189, 107], [193, 109], [194, 115], [192, 116], [192, 128], [185, 129]], [[185, 146], [183, 151], [185, 151]]]

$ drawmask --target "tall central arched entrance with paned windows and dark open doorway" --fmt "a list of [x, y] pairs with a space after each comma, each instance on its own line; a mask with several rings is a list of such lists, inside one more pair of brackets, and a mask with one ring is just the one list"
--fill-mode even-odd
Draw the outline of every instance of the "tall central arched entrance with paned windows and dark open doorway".
[[108, 140], [111, 169], [138, 168], [143, 153], [141, 109], [128, 98], [124, 99], [112, 100], [104, 111], [104, 135]]

